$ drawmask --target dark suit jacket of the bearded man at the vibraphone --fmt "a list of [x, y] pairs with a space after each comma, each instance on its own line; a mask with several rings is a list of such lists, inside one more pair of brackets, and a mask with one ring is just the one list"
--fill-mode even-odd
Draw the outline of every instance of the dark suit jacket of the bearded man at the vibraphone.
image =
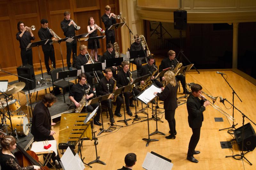
[[41, 101], [36, 104], [33, 110], [31, 133], [35, 141], [43, 141], [50, 138], [51, 133], [51, 115], [48, 107]]

